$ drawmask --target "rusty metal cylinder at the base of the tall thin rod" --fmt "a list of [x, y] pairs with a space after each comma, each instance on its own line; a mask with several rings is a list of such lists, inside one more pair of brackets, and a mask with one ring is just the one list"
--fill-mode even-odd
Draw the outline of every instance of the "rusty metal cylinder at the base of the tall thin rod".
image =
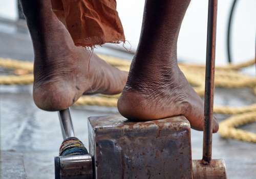
[[193, 178], [226, 179], [227, 174], [224, 160], [211, 160], [208, 165], [204, 165], [202, 160], [193, 160]]

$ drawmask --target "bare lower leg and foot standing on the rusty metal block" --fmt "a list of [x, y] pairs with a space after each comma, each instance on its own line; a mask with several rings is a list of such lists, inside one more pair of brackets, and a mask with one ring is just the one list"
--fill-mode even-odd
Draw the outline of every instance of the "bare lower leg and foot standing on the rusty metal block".
[[203, 130], [203, 101], [177, 65], [177, 40], [189, 3], [146, 0], [137, 54], [118, 101], [123, 116], [153, 120], [184, 115], [194, 129]]

